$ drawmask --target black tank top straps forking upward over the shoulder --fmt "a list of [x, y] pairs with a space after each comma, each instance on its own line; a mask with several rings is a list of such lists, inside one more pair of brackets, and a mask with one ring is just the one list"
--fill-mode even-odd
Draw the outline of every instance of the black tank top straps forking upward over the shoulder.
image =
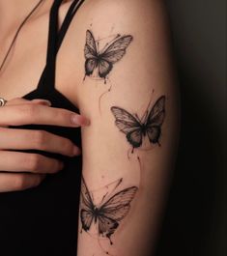
[[42, 90], [44, 92], [49, 92], [55, 87], [56, 56], [70, 27], [71, 19], [84, 0], [74, 0], [71, 3], [71, 7], [69, 8], [62, 26], [59, 29], [58, 13], [62, 2], [63, 0], [55, 0], [50, 10], [46, 64], [38, 84], [39, 91]]

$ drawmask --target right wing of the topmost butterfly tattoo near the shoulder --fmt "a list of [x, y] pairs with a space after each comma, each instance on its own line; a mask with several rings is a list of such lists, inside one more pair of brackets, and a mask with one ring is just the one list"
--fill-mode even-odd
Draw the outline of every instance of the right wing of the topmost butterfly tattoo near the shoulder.
[[123, 58], [131, 41], [131, 36], [121, 37], [114, 43], [111, 43], [102, 53], [99, 54], [99, 77], [105, 78], [113, 69], [113, 64]]

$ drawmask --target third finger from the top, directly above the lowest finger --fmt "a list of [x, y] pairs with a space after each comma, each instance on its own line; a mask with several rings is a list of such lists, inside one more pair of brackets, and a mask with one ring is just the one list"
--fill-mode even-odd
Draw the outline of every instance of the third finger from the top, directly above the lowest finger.
[[6, 172], [30, 172], [53, 174], [63, 169], [60, 160], [21, 152], [0, 151], [0, 170]]

